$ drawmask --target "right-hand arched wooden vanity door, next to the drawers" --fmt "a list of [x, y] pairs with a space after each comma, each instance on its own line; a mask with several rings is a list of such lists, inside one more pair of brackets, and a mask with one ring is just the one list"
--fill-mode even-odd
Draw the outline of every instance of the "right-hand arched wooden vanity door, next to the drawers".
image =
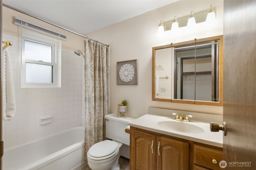
[[156, 169], [188, 170], [188, 143], [157, 136]]

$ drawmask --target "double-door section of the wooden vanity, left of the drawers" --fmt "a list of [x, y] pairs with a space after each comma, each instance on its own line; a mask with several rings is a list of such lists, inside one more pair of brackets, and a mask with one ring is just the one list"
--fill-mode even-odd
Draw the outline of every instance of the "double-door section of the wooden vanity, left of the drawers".
[[130, 131], [130, 170], [188, 170], [189, 145], [143, 130]]

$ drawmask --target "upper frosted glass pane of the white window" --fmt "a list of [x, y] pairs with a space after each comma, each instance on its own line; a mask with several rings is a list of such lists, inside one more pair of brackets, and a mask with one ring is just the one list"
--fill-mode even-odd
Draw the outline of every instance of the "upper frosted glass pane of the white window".
[[52, 46], [25, 40], [24, 58], [52, 63]]

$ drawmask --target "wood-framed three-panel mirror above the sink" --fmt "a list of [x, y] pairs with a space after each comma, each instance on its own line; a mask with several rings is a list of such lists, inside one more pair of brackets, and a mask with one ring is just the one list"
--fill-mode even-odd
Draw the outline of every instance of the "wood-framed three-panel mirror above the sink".
[[222, 106], [222, 36], [152, 48], [152, 100]]

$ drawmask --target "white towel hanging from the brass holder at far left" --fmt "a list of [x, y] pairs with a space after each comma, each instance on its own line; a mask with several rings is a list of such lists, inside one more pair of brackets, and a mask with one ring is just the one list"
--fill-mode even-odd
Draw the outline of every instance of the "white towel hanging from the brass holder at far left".
[[3, 120], [9, 121], [16, 111], [12, 62], [7, 49], [2, 54], [2, 117]]

